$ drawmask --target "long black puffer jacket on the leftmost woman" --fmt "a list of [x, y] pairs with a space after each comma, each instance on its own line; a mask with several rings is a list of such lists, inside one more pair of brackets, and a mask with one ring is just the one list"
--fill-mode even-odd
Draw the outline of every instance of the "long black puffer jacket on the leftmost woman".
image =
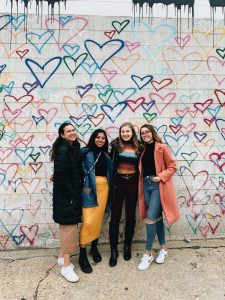
[[66, 140], [54, 159], [53, 219], [62, 225], [81, 222], [81, 165], [80, 144]]

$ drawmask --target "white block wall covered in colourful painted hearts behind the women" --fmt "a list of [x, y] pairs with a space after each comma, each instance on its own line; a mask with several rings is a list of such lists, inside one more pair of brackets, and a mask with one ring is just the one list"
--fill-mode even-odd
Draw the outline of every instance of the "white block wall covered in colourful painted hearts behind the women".
[[225, 26], [181, 25], [0, 15], [1, 250], [58, 246], [49, 151], [64, 121], [84, 143], [96, 128], [112, 140], [124, 121], [153, 124], [177, 162], [181, 218], [167, 237], [224, 237]]

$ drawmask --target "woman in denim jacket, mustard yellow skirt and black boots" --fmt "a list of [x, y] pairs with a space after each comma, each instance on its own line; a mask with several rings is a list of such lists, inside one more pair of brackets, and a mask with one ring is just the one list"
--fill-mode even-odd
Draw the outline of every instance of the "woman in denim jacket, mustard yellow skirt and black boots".
[[86, 244], [91, 242], [95, 263], [102, 260], [97, 243], [101, 234], [104, 212], [108, 200], [112, 162], [108, 154], [108, 139], [102, 129], [95, 130], [87, 147], [81, 149], [84, 188], [82, 192], [83, 224], [80, 231], [79, 265], [83, 272], [91, 273], [92, 267], [86, 254]]

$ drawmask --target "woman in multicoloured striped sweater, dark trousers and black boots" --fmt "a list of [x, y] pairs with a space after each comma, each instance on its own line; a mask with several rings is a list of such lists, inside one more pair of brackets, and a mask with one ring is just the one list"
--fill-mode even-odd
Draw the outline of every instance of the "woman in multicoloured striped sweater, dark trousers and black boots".
[[131, 259], [131, 243], [135, 229], [135, 212], [138, 198], [138, 155], [140, 143], [134, 126], [123, 123], [119, 129], [119, 137], [112, 142], [110, 152], [113, 160], [113, 176], [110, 187], [111, 220], [109, 226], [111, 257], [109, 265], [114, 267], [118, 257], [119, 223], [125, 198], [125, 240], [124, 259]]

